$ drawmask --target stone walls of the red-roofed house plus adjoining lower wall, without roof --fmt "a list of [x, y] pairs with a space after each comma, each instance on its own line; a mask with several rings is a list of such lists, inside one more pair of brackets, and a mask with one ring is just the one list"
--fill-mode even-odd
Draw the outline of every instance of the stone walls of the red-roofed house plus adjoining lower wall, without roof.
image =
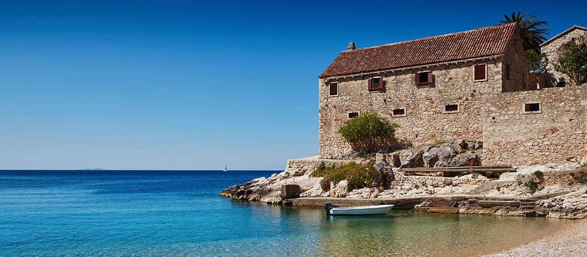
[[[475, 80], [477, 65], [485, 65], [485, 79]], [[414, 83], [419, 72], [430, 72], [432, 83]], [[587, 84], [530, 90], [537, 88], [531, 77], [517, 31], [497, 55], [321, 76], [319, 157], [351, 151], [338, 129], [349, 115], [363, 113], [399, 124], [398, 145], [483, 141], [483, 164], [529, 165], [587, 155]], [[383, 89], [369, 90], [373, 78], [383, 80]]]

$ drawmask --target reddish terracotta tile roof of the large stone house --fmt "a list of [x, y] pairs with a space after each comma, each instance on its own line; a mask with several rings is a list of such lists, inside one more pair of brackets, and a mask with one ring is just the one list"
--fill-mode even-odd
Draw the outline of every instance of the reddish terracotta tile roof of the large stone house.
[[500, 55], [515, 23], [340, 52], [319, 77]]

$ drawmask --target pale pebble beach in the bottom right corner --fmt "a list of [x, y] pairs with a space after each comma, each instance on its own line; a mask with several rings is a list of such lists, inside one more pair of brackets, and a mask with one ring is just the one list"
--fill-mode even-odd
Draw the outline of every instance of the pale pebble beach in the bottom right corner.
[[536, 242], [483, 257], [578, 257], [587, 256], [587, 220], [566, 226]]

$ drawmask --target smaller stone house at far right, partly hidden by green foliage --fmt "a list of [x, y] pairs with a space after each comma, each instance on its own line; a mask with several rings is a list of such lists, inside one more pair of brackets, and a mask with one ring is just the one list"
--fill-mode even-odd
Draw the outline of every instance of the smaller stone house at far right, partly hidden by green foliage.
[[562, 33], [546, 40], [540, 45], [542, 53], [546, 53], [549, 63], [546, 66], [546, 85], [547, 87], [553, 86], [566, 86], [570, 82], [569, 78], [560, 72], [554, 70], [554, 62], [558, 60], [559, 48], [568, 42], [574, 42], [576, 40], [587, 40], [587, 28], [582, 26], [572, 26], [572, 28], [563, 31]]

